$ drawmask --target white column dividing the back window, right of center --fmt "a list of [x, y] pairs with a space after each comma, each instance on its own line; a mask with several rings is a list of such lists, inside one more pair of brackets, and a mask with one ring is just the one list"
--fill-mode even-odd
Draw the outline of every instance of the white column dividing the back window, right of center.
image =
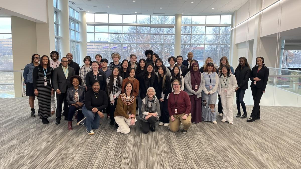
[[181, 55], [182, 14], [175, 14], [175, 57]]

